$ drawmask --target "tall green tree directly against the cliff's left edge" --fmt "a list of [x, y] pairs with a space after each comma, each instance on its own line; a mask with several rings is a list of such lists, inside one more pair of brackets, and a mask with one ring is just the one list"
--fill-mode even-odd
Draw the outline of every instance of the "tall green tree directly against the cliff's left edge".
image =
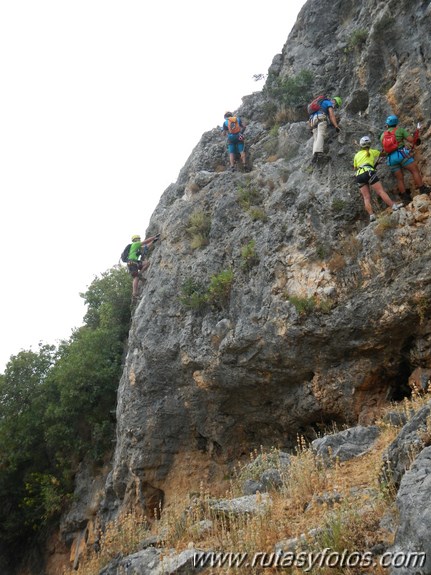
[[48, 381], [46, 443], [66, 477], [84, 454], [100, 460], [111, 447], [130, 324], [130, 275], [116, 266], [80, 295], [87, 304], [85, 325], [60, 346]]

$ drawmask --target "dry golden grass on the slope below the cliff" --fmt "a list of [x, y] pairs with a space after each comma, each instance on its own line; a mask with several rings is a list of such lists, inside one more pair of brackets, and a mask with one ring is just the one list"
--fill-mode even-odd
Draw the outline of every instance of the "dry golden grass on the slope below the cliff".
[[[429, 401], [430, 394], [414, 393], [402, 404], [391, 406], [391, 411], [404, 411], [407, 418]], [[382, 414], [383, 416], [384, 414]], [[399, 428], [377, 422], [381, 433], [374, 448], [367, 454], [344, 463], [336, 462], [326, 468], [317, 460], [302, 440], [298, 441], [296, 453], [290, 465], [279, 467], [282, 487], [270, 492], [270, 504], [263, 512], [244, 514], [220, 514], [212, 508], [214, 497], [201, 485], [188, 501], [172, 501], [161, 514], [161, 519], [149, 525], [145, 518], [126, 515], [109, 525], [100, 538], [100, 550], [89, 551], [85, 562], [76, 575], [98, 575], [109, 561], [121, 555], [139, 550], [140, 542], [158, 535], [162, 548], [178, 552], [194, 547], [199, 550], [223, 552], [274, 552], [280, 541], [306, 535], [301, 548], [321, 551], [325, 547], [333, 551], [363, 552], [377, 544], [390, 545], [393, 534], [380, 526], [382, 517], [396, 517], [395, 491], [390, 485], [379, 481], [382, 455], [399, 432]], [[431, 433], [431, 424], [430, 424]], [[430, 435], [430, 433], [428, 435]], [[231, 481], [226, 499], [242, 495], [245, 479], [253, 478], [268, 467], [280, 465], [279, 452], [252, 453], [250, 461], [257, 465], [238, 466]], [[257, 499], [263, 497], [256, 495]], [[317, 535], [307, 536], [317, 529]], [[305, 545], [305, 547], [304, 547]], [[382, 567], [367, 569], [367, 573], [383, 575]], [[275, 567], [209, 569], [206, 573], [263, 574], [292, 573], [299, 575], [304, 569]], [[359, 575], [358, 568], [317, 568], [309, 571], [319, 575]], [[72, 573], [72, 571], [70, 572]]]

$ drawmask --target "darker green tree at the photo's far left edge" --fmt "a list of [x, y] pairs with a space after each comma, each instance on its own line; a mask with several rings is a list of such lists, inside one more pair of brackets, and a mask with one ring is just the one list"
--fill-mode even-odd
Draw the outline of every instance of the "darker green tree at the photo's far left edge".
[[44, 444], [44, 382], [55, 358], [54, 346], [21, 351], [0, 378], [0, 541], [12, 549], [38, 522], [25, 504], [31, 475], [51, 465]]

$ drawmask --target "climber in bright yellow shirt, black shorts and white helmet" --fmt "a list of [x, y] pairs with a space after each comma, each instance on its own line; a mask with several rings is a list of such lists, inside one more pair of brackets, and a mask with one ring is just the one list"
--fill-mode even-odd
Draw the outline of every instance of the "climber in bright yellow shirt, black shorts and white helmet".
[[391, 200], [388, 194], [383, 189], [382, 183], [379, 180], [376, 172], [376, 166], [380, 159], [379, 150], [371, 148], [371, 140], [369, 136], [363, 136], [359, 142], [361, 150], [356, 152], [353, 158], [353, 168], [355, 170], [356, 182], [359, 184], [359, 191], [364, 199], [364, 207], [367, 214], [370, 216], [370, 222], [374, 222], [376, 216], [373, 213], [371, 206], [370, 187], [382, 198], [387, 206], [396, 211], [402, 208], [403, 204], [396, 204]]

